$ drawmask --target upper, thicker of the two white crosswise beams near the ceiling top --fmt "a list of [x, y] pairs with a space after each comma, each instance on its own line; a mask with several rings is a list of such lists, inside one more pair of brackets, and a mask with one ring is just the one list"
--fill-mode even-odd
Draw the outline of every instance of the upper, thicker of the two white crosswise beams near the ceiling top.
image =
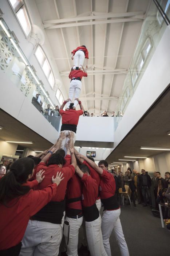
[[92, 13], [92, 15], [87, 15], [87, 16], [76, 16], [72, 18], [64, 18], [64, 19], [55, 19], [55, 20], [45, 20], [43, 22], [44, 27], [48, 27], [46, 25], [51, 25], [51, 24], [61, 24], [64, 22], [75, 22], [75, 21], [80, 21], [80, 20], [94, 20], [94, 19], [107, 19], [107, 18], [120, 18], [120, 17], [133, 17], [133, 18], [139, 18], [143, 19], [144, 12], [139, 11], [139, 12], [123, 12], [123, 13], [105, 13], [105, 14], [100, 14], [100, 15], [95, 15], [95, 13]]

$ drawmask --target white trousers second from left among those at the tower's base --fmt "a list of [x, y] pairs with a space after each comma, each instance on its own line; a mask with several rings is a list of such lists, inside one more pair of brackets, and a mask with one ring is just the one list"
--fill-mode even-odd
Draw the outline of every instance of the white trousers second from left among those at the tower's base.
[[[72, 219], [66, 217], [65, 221], [69, 222], [70, 225], [70, 233], [69, 240], [68, 237], [64, 236], [66, 247], [67, 247], [67, 255], [68, 256], [78, 256], [78, 240], [79, 240], [79, 229], [83, 223], [83, 216], [79, 219]], [[68, 240], [68, 245], [67, 245]]]

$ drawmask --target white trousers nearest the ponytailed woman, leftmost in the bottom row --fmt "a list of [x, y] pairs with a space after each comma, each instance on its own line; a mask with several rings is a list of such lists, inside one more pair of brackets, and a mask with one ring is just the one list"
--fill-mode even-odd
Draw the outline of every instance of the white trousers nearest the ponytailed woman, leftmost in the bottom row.
[[29, 220], [19, 255], [58, 256], [62, 235], [62, 224]]

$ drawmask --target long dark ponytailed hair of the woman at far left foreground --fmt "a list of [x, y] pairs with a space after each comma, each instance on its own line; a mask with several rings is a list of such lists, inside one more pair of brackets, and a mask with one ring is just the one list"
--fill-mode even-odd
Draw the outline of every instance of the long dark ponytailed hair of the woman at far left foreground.
[[31, 188], [23, 186], [29, 174], [32, 174], [34, 161], [29, 157], [16, 160], [11, 165], [11, 170], [0, 180], [0, 203], [5, 204], [16, 197], [23, 196]]

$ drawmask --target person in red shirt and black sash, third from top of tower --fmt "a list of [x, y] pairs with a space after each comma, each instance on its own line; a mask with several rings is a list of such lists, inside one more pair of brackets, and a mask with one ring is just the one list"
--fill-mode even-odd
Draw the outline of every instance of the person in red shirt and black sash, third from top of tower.
[[73, 103], [71, 103], [69, 110], [64, 111], [63, 108], [66, 105], [67, 101], [69, 100], [70, 99], [67, 99], [66, 101], [64, 101], [63, 104], [60, 106], [60, 110], [59, 110], [62, 116], [61, 131], [64, 131], [64, 134], [67, 136], [65, 139], [63, 139], [61, 148], [64, 149], [66, 153], [67, 153], [67, 150], [66, 150], [65, 144], [67, 144], [67, 142], [70, 140], [69, 138], [70, 131], [74, 132], [73, 142], [75, 143], [79, 116], [81, 116], [84, 113], [82, 102], [79, 101], [79, 99], [78, 99], [78, 102], [80, 105], [80, 110], [73, 109]]

